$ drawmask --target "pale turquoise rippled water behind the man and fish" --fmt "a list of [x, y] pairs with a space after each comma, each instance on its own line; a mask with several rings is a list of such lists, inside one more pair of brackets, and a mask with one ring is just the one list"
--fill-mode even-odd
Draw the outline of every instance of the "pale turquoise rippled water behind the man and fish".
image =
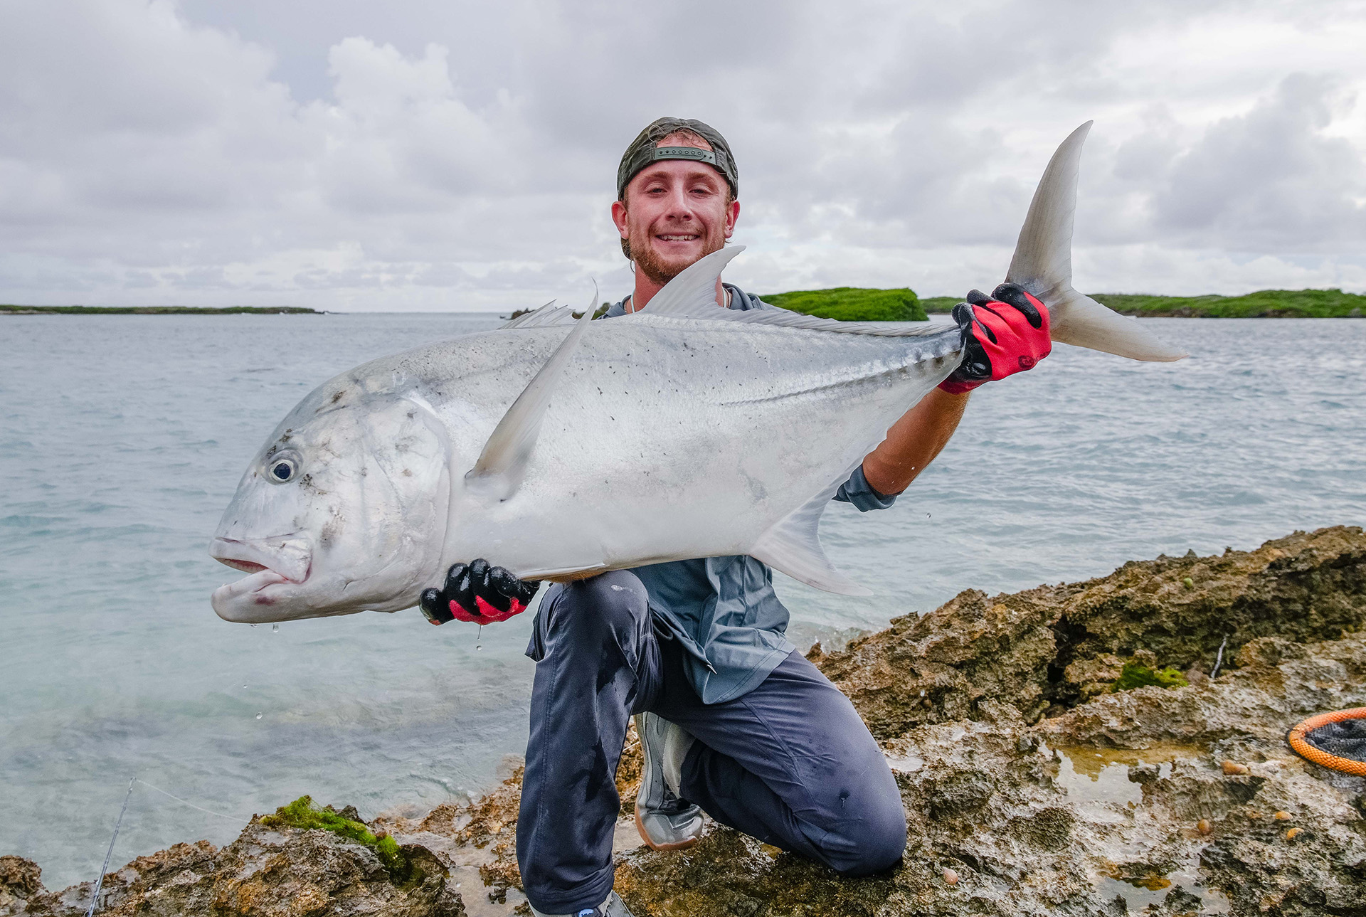
[[[478, 791], [526, 741], [529, 615], [249, 627], [205, 548], [313, 385], [492, 316], [0, 318], [0, 853], [93, 877], [134, 775], [245, 820], [302, 793], [373, 815]], [[1193, 358], [1059, 347], [978, 392], [896, 508], [825, 541], [874, 600], [784, 581], [796, 642], [963, 588], [1101, 575], [1366, 522], [1366, 321], [1147, 320]], [[133, 793], [115, 862], [240, 821]]]

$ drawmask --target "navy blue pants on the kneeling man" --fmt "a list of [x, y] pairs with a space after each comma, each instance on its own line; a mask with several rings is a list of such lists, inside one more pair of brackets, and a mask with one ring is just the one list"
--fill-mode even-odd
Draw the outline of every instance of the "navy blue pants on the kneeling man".
[[697, 737], [682, 795], [721, 824], [850, 876], [902, 858], [906, 812], [892, 771], [816, 666], [794, 652], [743, 697], [703, 704], [683, 652], [656, 633], [630, 571], [546, 593], [529, 649], [537, 666], [516, 825], [537, 910], [574, 913], [612, 890], [616, 765], [641, 712]]

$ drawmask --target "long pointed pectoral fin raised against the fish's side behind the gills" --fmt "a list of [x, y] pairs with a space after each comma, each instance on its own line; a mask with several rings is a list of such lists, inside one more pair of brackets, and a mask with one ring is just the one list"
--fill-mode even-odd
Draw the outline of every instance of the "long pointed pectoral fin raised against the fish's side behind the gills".
[[[594, 291], [593, 298], [597, 299]], [[567, 306], [566, 306], [567, 307]], [[535, 313], [533, 313], [535, 314]], [[489, 441], [479, 452], [479, 461], [464, 476], [467, 487], [488, 492], [505, 500], [522, 484], [535, 437], [541, 433], [541, 421], [550, 406], [550, 395], [564, 372], [564, 365], [574, 355], [574, 348], [593, 318], [593, 309], [585, 309], [583, 317], [574, 323], [574, 329], [560, 342], [550, 358], [512, 402], [499, 425], [489, 435]]]

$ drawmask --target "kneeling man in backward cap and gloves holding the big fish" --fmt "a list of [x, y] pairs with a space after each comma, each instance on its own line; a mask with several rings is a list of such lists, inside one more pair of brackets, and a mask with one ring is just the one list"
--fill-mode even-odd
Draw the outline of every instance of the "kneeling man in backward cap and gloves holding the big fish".
[[[663, 118], [627, 148], [612, 220], [635, 288], [605, 318], [643, 309], [679, 272], [721, 249], [740, 213], [725, 139]], [[773, 309], [717, 280], [717, 306]], [[1016, 287], [955, 310], [963, 365], [865, 458], [835, 499], [892, 506], [953, 435], [968, 391], [1049, 353], [1048, 310]], [[881, 749], [852, 704], [787, 641], [788, 612], [754, 558], [703, 558], [555, 584], [534, 622], [518, 862], [533, 913], [628, 917], [612, 891], [615, 774], [637, 717], [645, 771], [637, 827], [657, 850], [695, 843], [702, 813], [843, 875], [887, 869], [906, 813]], [[485, 560], [428, 589], [433, 623], [505, 620], [531, 600]]]

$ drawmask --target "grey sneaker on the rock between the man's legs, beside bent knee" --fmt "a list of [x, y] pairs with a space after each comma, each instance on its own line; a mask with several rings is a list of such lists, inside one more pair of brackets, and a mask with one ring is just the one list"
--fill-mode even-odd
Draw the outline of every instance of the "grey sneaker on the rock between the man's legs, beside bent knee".
[[702, 809], [680, 799], [679, 771], [697, 739], [654, 713], [635, 717], [645, 767], [635, 794], [635, 827], [652, 850], [682, 850], [702, 836]]

